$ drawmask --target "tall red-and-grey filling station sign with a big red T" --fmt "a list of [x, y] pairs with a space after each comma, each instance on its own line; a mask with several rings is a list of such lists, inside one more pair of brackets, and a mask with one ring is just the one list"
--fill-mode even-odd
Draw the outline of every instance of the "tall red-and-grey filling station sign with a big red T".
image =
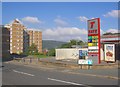
[[100, 63], [100, 18], [88, 20], [88, 58]]

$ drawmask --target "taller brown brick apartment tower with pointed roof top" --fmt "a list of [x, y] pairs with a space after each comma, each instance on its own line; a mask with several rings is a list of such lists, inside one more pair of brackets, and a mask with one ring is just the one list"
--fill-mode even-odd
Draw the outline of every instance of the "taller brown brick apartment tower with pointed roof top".
[[15, 19], [10, 25], [10, 53], [23, 53], [28, 47], [26, 27]]

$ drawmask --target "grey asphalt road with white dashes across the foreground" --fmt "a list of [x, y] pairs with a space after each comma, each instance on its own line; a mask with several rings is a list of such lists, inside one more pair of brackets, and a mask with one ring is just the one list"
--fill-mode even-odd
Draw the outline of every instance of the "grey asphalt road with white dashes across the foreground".
[[3, 63], [3, 66], [3, 85], [118, 85], [116, 79], [76, 75], [9, 63]]

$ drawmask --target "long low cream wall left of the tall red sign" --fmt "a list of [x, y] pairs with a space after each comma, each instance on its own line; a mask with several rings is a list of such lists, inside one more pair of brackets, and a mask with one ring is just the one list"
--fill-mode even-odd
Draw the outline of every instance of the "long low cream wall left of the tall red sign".
[[56, 60], [79, 59], [79, 50], [88, 50], [87, 48], [64, 48], [56, 49]]

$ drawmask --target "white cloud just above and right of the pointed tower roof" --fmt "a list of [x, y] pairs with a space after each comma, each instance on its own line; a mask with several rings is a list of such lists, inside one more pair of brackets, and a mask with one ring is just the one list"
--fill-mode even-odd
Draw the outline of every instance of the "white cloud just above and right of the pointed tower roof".
[[27, 22], [27, 23], [42, 23], [42, 21], [40, 21], [37, 17], [24, 17], [22, 18], [23, 22]]

